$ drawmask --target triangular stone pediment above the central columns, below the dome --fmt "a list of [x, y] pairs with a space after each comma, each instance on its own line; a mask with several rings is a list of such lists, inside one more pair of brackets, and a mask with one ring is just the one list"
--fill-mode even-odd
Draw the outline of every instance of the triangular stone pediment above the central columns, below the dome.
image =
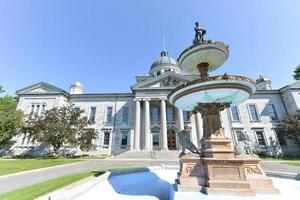
[[149, 77], [147, 80], [132, 86], [132, 89], [137, 90], [174, 88], [187, 81], [189, 81], [189, 78], [184, 75], [168, 73], [161, 76]]

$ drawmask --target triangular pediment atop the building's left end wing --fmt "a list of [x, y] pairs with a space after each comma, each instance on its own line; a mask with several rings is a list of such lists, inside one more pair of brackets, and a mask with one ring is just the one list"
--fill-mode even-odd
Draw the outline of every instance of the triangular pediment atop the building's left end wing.
[[45, 82], [40, 82], [17, 91], [17, 94], [50, 94], [50, 93], [67, 94], [67, 92], [65, 92], [64, 90]]

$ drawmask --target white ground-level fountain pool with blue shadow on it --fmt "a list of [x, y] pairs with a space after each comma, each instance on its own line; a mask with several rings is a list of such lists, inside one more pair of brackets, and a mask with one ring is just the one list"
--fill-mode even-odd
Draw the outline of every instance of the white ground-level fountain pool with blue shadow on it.
[[[174, 166], [175, 167], [175, 166]], [[256, 196], [214, 196], [201, 192], [178, 192], [175, 179], [178, 169], [173, 166], [149, 167], [144, 171], [131, 171], [112, 176], [112, 173], [76, 183], [64, 189], [40, 197], [39, 200], [285, 200], [296, 199], [300, 195], [300, 181], [285, 178], [272, 178], [280, 188], [279, 195], [257, 194]]]

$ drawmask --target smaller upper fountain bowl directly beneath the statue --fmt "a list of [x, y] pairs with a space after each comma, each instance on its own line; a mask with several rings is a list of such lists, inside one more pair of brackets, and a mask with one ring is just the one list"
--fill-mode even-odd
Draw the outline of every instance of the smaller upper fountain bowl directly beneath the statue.
[[207, 40], [194, 44], [186, 48], [178, 57], [178, 64], [189, 74], [198, 74], [198, 65], [200, 63], [208, 64], [208, 72], [214, 71], [220, 67], [228, 58], [228, 45], [219, 42]]

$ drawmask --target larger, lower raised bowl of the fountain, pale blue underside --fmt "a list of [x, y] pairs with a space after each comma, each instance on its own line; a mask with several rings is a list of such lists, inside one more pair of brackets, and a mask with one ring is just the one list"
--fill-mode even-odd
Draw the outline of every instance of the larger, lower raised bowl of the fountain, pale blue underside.
[[244, 76], [223, 75], [197, 79], [178, 86], [169, 95], [176, 107], [192, 111], [198, 103], [238, 105], [256, 90], [255, 83]]

